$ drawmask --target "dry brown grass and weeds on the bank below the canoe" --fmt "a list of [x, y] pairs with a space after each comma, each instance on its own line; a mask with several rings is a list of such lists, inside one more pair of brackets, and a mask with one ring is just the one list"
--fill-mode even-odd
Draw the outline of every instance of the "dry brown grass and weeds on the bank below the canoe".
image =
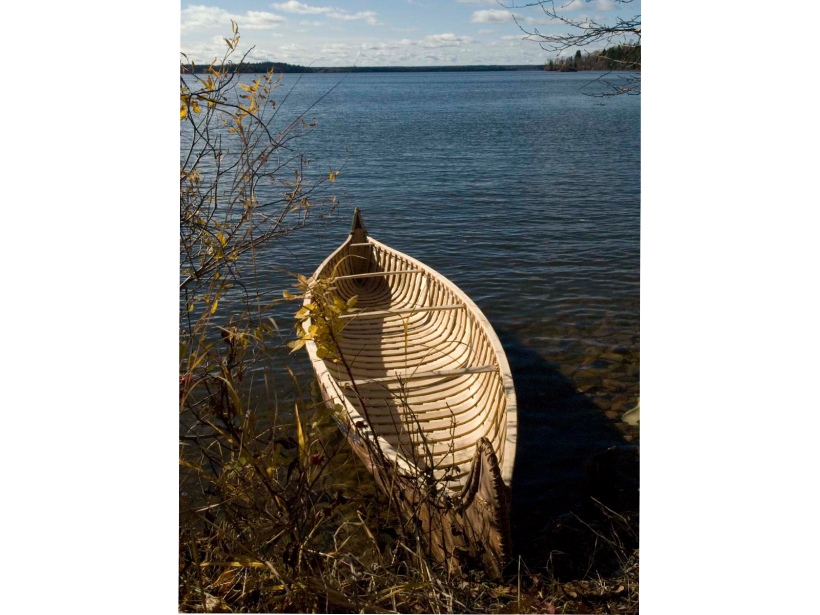
[[544, 561], [447, 574], [319, 405], [257, 433], [220, 383], [180, 415], [180, 612], [638, 611], [636, 513], [590, 499], [531, 537]]

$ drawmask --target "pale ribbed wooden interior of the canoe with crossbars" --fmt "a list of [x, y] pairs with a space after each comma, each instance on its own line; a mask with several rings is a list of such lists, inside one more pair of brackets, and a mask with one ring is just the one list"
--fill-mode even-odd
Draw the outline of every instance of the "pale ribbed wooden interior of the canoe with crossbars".
[[[341, 364], [312, 353], [326, 398], [343, 403], [353, 421], [369, 417], [389, 458], [432, 471], [453, 491], [464, 487], [476, 443], [486, 438], [509, 485], [515, 394], [498, 339], [475, 304], [444, 276], [355, 224], [317, 276], [335, 278], [342, 300], [358, 297], [340, 344], [358, 394]], [[430, 374], [442, 371], [451, 373]]]

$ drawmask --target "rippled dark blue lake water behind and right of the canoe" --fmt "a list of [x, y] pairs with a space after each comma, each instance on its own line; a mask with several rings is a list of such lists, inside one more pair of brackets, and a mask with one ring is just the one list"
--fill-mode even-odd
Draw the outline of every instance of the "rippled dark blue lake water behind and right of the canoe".
[[[271, 267], [315, 270], [347, 235], [353, 206], [373, 237], [463, 289], [513, 371], [519, 528], [572, 506], [583, 463], [625, 444], [618, 417], [638, 399], [640, 97], [585, 96], [598, 75], [304, 75], [295, 87], [298, 75], [284, 75], [277, 90], [289, 120], [336, 85], [298, 147], [325, 170], [352, 154], [333, 189], [348, 203], [337, 219], [258, 259], [263, 297], [289, 288]], [[289, 327], [293, 312], [271, 315]], [[307, 357], [292, 360], [309, 379]], [[292, 394], [285, 377], [275, 385], [280, 400]]]

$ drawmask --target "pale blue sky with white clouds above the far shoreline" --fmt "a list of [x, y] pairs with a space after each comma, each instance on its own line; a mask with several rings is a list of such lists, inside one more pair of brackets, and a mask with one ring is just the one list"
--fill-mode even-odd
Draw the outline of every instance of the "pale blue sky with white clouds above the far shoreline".
[[[564, 34], [532, 0], [216, 0], [181, 5], [181, 49], [198, 64], [225, 52], [230, 20], [249, 62], [306, 66], [541, 64], [555, 52], [522, 40], [529, 31]], [[573, 20], [613, 23], [640, 15], [640, 0], [556, 0]], [[515, 19], [513, 19], [513, 16]], [[585, 51], [594, 51], [589, 46]], [[600, 48], [600, 46], [598, 47]], [[575, 48], [563, 52], [574, 54]]]

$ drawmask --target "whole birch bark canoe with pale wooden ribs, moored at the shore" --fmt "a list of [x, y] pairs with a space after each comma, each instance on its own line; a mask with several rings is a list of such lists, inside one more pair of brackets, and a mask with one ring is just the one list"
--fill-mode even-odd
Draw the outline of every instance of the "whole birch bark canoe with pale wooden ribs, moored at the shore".
[[490, 322], [453, 282], [369, 237], [358, 208], [310, 281], [327, 279], [335, 296], [358, 297], [342, 316], [344, 362], [305, 344], [339, 428], [380, 488], [399, 493], [436, 559], [500, 576], [511, 557], [517, 413]]

